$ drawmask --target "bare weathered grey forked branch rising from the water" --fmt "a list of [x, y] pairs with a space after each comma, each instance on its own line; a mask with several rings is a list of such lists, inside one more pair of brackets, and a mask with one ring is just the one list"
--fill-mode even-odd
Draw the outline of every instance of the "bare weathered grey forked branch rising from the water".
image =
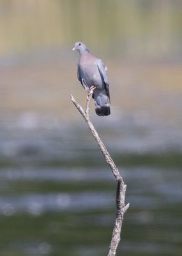
[[112, 157], [110, 156], [109, 152], [107, 151], [107, 148], [103, 144], [102, 140], [100, 140], [100, 137], [98, 136], [98, 132], [96, 131], [95, 127], [91, 123], [91, 120], [89, 118], [89, 104], [91, 101], [93, 95], [93, 90], [90, 90], [90, 92], [87, 94], [87, 103], [86, 103], [86, 111], [76, 102], [76, 100], [73, 98], [72, 95], [70, 95], [71, 100], [75, 107], [79, 110], [80, 114], [83, 116], [84, 120], [86, 121], [91, 133], [93, 134], [95, 140], [98, 143], [98, 146], [100, 147], [103, 156], [105, 157], [105, 161], [109, 164], [110, 169], [112, 170], [112, 173], [117, 181], [117, 190], [116, 190], [116, 220], [114, 223], [114, 228], [112, 232], [112, 239], [109, 246], [109, 254], [108, 256], [115, 256], [116, 255], [116, 249], [118, 248], [118, 244], [120, 241], [120, 234], [121, 234], [121, 227], [123, 223], [123, 216], [125, 212], [127, 211], [130, 204], [125, 205], [125, 193], [126, 193], [126, 185], [123, 181], [123, 178], [121, 177], [118, 168], [116, 167], [116, 164], [112, 160]]

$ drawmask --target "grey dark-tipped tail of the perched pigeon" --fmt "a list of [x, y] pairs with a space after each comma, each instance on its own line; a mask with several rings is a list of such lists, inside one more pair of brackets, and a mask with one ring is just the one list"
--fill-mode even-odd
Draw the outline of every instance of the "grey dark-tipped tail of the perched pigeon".
[[110, 100], [106, 93], [93, 95], [95, 100], [95, 112], [98, 116], [110, 115]]

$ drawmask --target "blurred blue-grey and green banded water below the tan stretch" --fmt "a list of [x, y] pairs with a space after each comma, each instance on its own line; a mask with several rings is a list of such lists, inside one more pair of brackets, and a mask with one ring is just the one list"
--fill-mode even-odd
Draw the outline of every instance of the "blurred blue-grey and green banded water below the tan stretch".
[[[132, 120], [95, 120], [131, 204], [118, 252], [179, 255], [181, 131]], [[1, 254], [105, 255], [116, 184], [87, 128], [37, 113], [1, 121]], [[169, 136], [161, 138], [164, 126]]]

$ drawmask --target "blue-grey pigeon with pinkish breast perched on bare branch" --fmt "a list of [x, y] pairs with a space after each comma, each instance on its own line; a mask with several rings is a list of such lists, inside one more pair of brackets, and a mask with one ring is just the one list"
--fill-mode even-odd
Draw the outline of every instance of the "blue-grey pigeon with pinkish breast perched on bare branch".
[[98, 116], [110, 115], [110, 93], [107, 67], [100, 58], [91, 54], [83, 42], [76, 42], [73, 51], [79, 51], [77, 77], [87, 93], [93, 90], [95, 111]]

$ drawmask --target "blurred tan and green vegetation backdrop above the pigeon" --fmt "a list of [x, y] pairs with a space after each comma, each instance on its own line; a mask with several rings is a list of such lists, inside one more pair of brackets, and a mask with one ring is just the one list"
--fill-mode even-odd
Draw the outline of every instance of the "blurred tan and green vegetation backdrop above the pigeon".
[[77, 40], [112, 56], [181, 54], [179, 0], [1, 0], [0, 8], [0, 54], [71, 47]]

